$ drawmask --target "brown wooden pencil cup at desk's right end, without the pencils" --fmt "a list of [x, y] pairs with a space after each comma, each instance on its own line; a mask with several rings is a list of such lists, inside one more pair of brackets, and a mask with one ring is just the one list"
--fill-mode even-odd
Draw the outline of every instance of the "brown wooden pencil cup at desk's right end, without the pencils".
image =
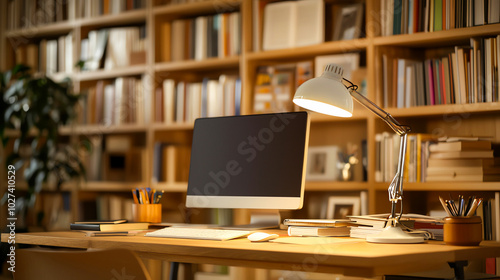
[[448, 245], [477, 246], [483, 239], [481, 217], [447, 217], [443, 240]]

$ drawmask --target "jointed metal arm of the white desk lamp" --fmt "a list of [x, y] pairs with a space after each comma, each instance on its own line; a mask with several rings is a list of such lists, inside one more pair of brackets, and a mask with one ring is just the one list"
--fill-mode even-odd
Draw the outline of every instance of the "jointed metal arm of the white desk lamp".
[[387, 113], [382, 108], [373, 103], [370, 99], [357, 92], [356, 88], [357, 87], [354, 85], [348, 87], [349, 93], [351, 94], [352, 98], [363, 105], [363, 107], [381, 118], [387, 125], [389, 125], [389, 127], [392, 128], [392, 130], [394, 130], [400, 136], [399, 158], [396, 175], [394, 176], [394, 179], [392, 179], [388, 189], [389, 201], [391, 202], [391, 216], [389, 217], [389, 221], [391, 222], [392, 226], [394, 226], [395, 223], [397, 223], [401, 218], [403, 210], [403, 207], [401, 206], [401, 212], [396, 215], [396, 204], [398, 203], [398, 201], [403, 200], [403, 173], [407, 143], [406, 138], [408, 132], [411, 131], [411, 128], [407, 125], [401, 125], [391, 116], [391, 114]]

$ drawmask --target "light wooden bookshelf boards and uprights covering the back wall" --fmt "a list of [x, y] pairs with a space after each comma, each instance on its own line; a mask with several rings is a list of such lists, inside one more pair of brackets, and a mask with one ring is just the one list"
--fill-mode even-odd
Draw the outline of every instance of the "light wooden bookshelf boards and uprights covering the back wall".
[[[287, 62], [302, 60], [314, 60], [316, 56], [343, 53], [361, 53], [364, 57], [363, 66], [366, 66], [366, 81], [368, 98], [382, 106], [383, 92], [381, 90], [382, 78], [382, 54], [386, 50], [394, 50], [398, 53], [411, 53], [419, 51], [431, 52], [434, 48], [451, 48], [456, 45], [468, 45], [470, 38], [483, 36], [496, 36], [500, 34], [500, 24], [489, 24], [484, 26], [467, 27], [460, 29], [417, 32], [414, 34], [381, 36], [380, 35], [380, 9], [381, 1], [362, 1], [365, 4], [365, 33], [362, 38], [345, 41], [326, 41], [305, 47], [280, 49], [271, 51], [253, 51], [253, 11], [252, 1], [246, 0], [207, 0], [186, 4], [155, 5], [158, 1], [146, 1], [146, 7], [140, 10], [127, 11], [116, 15], [103, 15], [94, 18], [77, 18], [65, 22], [57, 22], [39, 27], [27, 29], [6, 30], [6, 23], [2, 21], [2, 45], [0, 46], [2, 59], [0, 67], [2, 70], [10, 68], [14, 64], [14, 47], [10, 44], [11, 39], [29, 37], [31, 40], [40, 40], [45, 37], [54, 37], [73, 32], [74, 44], [76, 46], [76, 57], [79, 57], [80, 43], [83, 34], [89, 30], [97, 30], [108, 27], [119, 27], [126, 25], [145, 24], [147, 40], [147, 58], [143, 65], [132, 65], [124, 68], [89, 72], [74, 72], [69, 75], [75, 83], [76, 89], [82, 89], [98, 80], [110, 80], [118, 77], [149, 76], [152, 85], [148, 87], [146, 94], [153, 96], [155, 88], [161, 86], [163, 79], [188, 77], [189, 81], [200, 82], [205, 76], [213, 73], [238, 74], [242, 81], [241, 112], [242, 114], [253, 113], [253, 93], [256, 69], [261, 65], [276, 65]], [[329, 5], [331, 1], [327, 1]], [[2, 3], [0, 7], [5, 7]], [[6, 10], [2, 9], [0, 18], [6, 18]], [[224, 58], [208, 58], [204, 60], [185, 60], [175, 62], [160, 62], [160, 41], [165, 39], [159, 35], [158, 28], [161, 23], [171, 22], [175, 19], [194, 18], [197, 16], [213, 15], [216, 13], [238, 11], [242, 16], [242, 43], [241, 54]], [[169, 41], [169, 40], [167, 40]], [[76, 62], [76, 61], [75, 61]], [[208, 74], [207, 74], [208, 73]], [[64, 77], [64, 73], [57, 76]], [[464, 118], [464, 124], [454, 132], [464, 135], [478, 132], [487, 132], [493, 136], [493, 142], [500, 143], [500, 102], [475, 103], [475, 104], [446, 104], [435, 106], [419, 106], [411, 108], [385, 108], [401, 122], [409, 123], [414, 127], [414, 132], [432, 133], [434, 129], [447, 130], [446, 120], [443, 116], [455, 116]], [[153, 110], [151, 110], [153, 111]], [[151, 112], [153, 114], [153, 112]], [[333, 118], [318, 114], [311, 114], [312, 145], [340, 145], [345, 146], [349, 141], [361, 143], [367, 142], [367, 168], [368, 178], [363, 181], [358, 174], [351, 182], [307, 182], [308, 192], [368, 192], [368, 205], [370, 213], [389, 212], [390, 204], [386, 198], [389, 183], [375, 181], [375, 134], [390, 131], [382, 121], [361, 106], [355, 107], [354, 117], [350, 119]], [[148, 153], [148, 178], [143, 182], [83, 182], [81, 190], [89, 192], [120, 192], [127, 193], [133, 187], [151, 186], [167, 192], [186, 191], [185, 182], [159, 182], [153, 184], [151, 178], [151, 166], [154, 158], [154, 144], [156, 142], [172, 141], [176, 144], [190, 145], [192, 138], [193, 123], [155, 123], [146, 125], [120, 125], [106, 127], [103, 125], [77, 125], [61, 130], [61, 134], [68, 138], [73, 137], [78, 141], [86, 135], [125, 135], [140, 142]], [[344, 131], [347, 131], [344, 133]], [[16, 135], [9, 132], [9, 135]], [[76, 139], [76, 140], [75, 140]], [[360, 172], [361, 165], [357, 166]], [[0, 173], [2, 175], [2, 173]], [[433, 192], [452, 192], [458, 194], [465, 191], [484, 191], [489, 194], [500, 191], [500, 182], [425, 182], [405, 183], [404, 188], [411, 193], [405, 196], [405, 200], [412, 201], [415, 193], [427, 194]], [[74, 191], [78, 197], [78, 191]], [[409, 209], [412, 210], [412, 209]], [[428, 209], [430, 210], [430, 209]], [[74, 209], [74, 217], [78, 213]], [[422, 213], [425, 214], [425, 213]]]

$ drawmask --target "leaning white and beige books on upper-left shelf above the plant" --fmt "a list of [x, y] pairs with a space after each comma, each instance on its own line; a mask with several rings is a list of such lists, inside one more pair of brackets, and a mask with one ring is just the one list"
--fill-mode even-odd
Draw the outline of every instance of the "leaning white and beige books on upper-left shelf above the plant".
[[146, 27], [92, 30], [80, 46], [82, 70], [115, 69], [146, 63]]

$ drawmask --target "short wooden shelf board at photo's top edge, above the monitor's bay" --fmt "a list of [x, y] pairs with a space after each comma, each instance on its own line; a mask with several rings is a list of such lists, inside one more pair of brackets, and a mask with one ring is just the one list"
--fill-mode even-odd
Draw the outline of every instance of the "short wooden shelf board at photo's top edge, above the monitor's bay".
[[194, 16], [206, 13], [226, 13], [239, 9], [242, 0], [225, 1], [202, 1], [198, 3], [170, 4], [156, 6], [153, 14], [156, 16], [169, 16], [179, 18], [182, 16]]

